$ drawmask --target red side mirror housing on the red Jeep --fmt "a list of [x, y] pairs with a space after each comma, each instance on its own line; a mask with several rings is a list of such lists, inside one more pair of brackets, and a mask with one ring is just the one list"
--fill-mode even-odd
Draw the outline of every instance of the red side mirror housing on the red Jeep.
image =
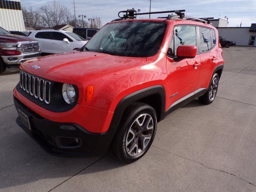
[[197, 48], [194, 45], [180, 45], [177, 48], [177, 58], [194, 58], [196, 56]]

